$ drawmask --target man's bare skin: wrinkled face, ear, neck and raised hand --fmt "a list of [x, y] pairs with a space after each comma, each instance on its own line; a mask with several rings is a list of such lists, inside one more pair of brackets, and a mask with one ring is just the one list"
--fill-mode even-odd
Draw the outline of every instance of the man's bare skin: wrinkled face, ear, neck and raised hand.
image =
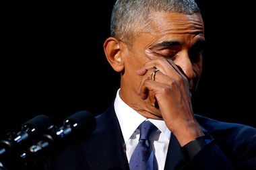
[[[199, 13], [155, 13], [150, 26], [132, 46], [108, 38], [104, 50], [113, 69], [122, 73], [123, 101], [146, 118], [163, 119], [184, 146], [203, 136], [191, 105], [202, 69], [203, 21]], [[159, 70], [155, 81], [154, 68]]]

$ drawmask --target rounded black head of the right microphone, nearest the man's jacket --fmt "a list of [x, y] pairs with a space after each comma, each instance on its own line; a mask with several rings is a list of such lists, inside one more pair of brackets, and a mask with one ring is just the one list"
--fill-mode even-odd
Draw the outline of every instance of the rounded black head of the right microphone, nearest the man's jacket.
[[91, 134], [96, 128], [96, 120], [94, 115], [86, 110], [79, 111], [63, 121], [64, 125], [71, 126], [74, 134]]

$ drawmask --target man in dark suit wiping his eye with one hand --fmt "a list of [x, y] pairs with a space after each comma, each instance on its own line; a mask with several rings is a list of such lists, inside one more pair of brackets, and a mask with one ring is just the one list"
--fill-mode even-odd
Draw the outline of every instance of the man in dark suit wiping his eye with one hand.
[[145, 121], [156, 126], [148, 143], [157, 169], [256, 168], [255, 128], [193, 114], [205, 43], [194, 1], [118, 0], [111, 34], [104, 52], [121, 73], [117, 97], [96, 117], [92, 136], [67, 146], [45, 169], [136, 169]]

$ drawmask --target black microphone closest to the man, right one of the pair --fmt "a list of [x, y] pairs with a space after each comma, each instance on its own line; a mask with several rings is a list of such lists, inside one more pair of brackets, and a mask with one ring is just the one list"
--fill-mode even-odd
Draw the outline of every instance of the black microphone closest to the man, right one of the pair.
[[61, 126], [50, 126], [41, 140], [30, 146], [20, 157], [26, 163], [38, 162], [51, 153], [62, 151], [67, 144], [88, 137], [95, 128], [96, 120], [90, 112], [77, 112], [65, 118]]

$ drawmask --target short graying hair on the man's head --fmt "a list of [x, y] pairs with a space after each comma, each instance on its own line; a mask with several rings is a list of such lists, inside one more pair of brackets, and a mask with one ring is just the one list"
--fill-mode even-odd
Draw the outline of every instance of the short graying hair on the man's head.
[[192, 15], [200, 9], [193, 0], [117, 0], [110, 22], [111, 36], [131, 45], [135, 36], [150, 31], [150, 19], [156, 12]]

